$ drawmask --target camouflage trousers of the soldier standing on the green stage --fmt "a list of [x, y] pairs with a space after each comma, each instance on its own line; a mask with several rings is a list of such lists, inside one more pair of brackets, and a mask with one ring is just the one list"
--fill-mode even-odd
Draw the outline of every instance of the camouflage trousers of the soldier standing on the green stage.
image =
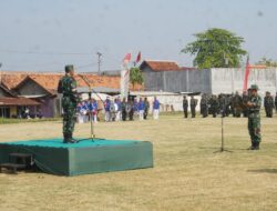
[[75, 125], [75, 108], [63, 108], [63, 133], [72, 134]]

